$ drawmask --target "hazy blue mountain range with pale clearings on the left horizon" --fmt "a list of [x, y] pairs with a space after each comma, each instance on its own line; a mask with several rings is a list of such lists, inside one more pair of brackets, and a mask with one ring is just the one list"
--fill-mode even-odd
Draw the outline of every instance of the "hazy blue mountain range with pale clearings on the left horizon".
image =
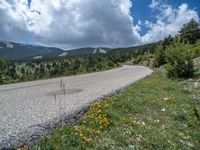
[[42, 59], [50, 57], [80, 56], [88, 54], [105, 54], [109, 48], [79, 48], [64, 51], [55, 47], [20, 44], [0, 41], [0, 57], [7, 60]]

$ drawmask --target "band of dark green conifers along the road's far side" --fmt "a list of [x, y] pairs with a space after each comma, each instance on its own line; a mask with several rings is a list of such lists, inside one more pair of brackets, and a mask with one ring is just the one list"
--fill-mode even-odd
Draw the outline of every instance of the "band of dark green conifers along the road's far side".
[[107, 54], [65, 56], [38, 60], [0, 60], [0, 84], [108, 70], [138, 55], [153, 53], [157, 43], [119, 48]]

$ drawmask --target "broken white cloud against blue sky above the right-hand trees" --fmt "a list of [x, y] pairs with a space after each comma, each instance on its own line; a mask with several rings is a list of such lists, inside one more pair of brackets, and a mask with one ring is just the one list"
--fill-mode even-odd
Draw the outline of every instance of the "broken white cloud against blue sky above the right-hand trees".
[[178, 8], [163, 3], [159, 0], [152, 0], [149, 7], [153, 11], [158, 11], [156, 22], [145, 22], [149, 29], [142, 37], [142, 43], [159, 41], [168, 35], [176, 35], [180, 28], [192, 18], [199, 22], [198, 12], [189, 9], [188, 4], [181, 4]]

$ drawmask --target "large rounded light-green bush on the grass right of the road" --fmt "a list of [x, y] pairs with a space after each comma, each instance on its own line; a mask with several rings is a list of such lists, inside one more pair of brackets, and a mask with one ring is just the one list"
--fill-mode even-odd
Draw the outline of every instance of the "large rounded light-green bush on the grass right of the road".
[[168, 77], [189, 78], [193, 76], [193, 59], [189, 49], [188, 45], [176, 43], [166, 50]]

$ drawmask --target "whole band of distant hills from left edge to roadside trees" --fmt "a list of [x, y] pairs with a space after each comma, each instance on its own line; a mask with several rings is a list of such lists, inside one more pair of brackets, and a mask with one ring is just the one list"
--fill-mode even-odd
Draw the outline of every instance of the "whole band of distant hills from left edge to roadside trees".
[[0, 57], [6, 60], [31, 60], [66, 56], [83, 56], [91, 54], [118, 53], [120, 55], [132, 56], [134, 54], [144, 54], [153, 52], [157, 43], [133, 46], [127, 48], [79, 48], [73, 50], [63, 50], [56, 47], [45, 47], [38, 45], [27, 45], [9, 41], [0, 41]]

